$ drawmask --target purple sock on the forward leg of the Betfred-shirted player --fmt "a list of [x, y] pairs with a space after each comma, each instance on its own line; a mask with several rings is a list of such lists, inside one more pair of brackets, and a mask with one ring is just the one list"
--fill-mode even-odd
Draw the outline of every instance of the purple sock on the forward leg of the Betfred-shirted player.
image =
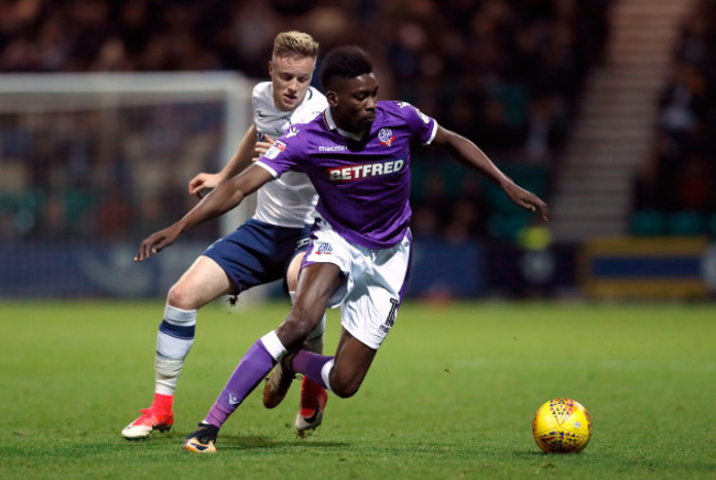
[[243, 354], [241, 361], [231, 373], [226, 386], [209, 408], [205, 422], [221, 427], [224, 422], [243, 402], [243, 400], [256, 389], [256, 386], [271, 371], [275, 360], [265, 349], [261, 340]]

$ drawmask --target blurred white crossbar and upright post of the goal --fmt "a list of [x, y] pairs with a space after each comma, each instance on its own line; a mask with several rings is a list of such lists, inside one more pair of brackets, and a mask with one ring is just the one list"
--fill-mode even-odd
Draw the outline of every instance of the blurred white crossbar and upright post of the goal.
[[[249, 126], [251, 87], [252, 84], [246, 77], [236, 73], [0, 75], [0, 116], [6, 119], [12, 116], [40, 118], [43, 113], [56, 116], [99, 111], [104, 113], [100, 118], [107, 121], [106, 127], [109, 129], [99, 133], [105, 139], [104, 148], [107, 149], [107, 143], [117, 143], [122, 135], [116, 126], [122, 111], [131, 114], [132, 109], [214, 102], [218, 114], [223, 117], [218, 152], [220, 161], [226, 162], [236, 152]], [[151, 127], [148, 124], [148, 128]], [[151, 132], [147, 134], [151, 135]], [[0, 164], [8, 161], [4, 155], [0, 157]], [[197, 167], [203, 161], [206, 159], [195, 159]], [[17, 187], [2, 186], [7, 189]], [[221, 233], [229, 231], [232, 226], [235, 228], [237, 221], [240, 223], [246, 219], [250, 209], [249, 203], [224, 217]]]

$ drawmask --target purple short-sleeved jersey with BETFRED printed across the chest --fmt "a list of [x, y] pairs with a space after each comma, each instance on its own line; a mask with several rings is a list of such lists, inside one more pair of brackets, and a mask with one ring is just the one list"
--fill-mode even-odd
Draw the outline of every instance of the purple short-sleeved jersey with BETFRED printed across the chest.
[[393, 247], [411, 217], [411, 142], [432, 142], [437, 123], [410, 103], [379, 101], [362, 139], [338, 130], [326, 110], [291, 129], [257, 164], [275, 177], [288, 171], [308, 175], [318, 192], [316, 210], [346, 240]]

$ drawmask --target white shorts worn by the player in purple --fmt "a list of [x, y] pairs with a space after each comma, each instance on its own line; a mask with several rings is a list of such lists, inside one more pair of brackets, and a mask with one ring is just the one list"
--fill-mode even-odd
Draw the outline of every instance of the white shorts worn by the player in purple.
[[346, 275], [328, 306], [340, 306], [340, 325], [361, 343], [378, 350], [395, 321], [408, 286], [412, 236], [375, 250], [340, 237], [325, 220], [316, 222], [304, 265], [333, 263]]

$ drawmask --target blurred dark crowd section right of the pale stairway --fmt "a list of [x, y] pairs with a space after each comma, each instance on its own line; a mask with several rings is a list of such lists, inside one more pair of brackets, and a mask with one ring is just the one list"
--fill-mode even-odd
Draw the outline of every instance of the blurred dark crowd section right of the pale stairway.
[[638, 172], [632, 232], [716, 232], [716, 2], [684, 20], [663, 86], [655, 140]]

